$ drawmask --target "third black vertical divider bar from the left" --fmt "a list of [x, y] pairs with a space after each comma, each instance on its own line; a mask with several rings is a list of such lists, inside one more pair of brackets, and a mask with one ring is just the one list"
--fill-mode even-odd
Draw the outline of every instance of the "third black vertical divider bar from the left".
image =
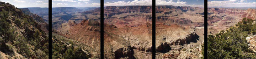
[[152, 59], [155, 59], [155, 0], [152, 0]]

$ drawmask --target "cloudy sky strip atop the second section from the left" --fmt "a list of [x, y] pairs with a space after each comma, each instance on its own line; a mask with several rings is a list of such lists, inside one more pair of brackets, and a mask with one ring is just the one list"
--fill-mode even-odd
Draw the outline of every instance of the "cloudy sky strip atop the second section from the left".
[[101, 0], [53, 0], [53, 7], [100, 7]]

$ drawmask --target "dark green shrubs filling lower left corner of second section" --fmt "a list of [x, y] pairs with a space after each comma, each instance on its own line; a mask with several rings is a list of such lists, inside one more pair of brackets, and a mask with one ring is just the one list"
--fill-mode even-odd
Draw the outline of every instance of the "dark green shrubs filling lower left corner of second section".
[[[88, 59], [81, 47], [76, 47], [69, 39], [53, 34], [53, 59]], [[68, 42], [65, 42], [68, 41]]]

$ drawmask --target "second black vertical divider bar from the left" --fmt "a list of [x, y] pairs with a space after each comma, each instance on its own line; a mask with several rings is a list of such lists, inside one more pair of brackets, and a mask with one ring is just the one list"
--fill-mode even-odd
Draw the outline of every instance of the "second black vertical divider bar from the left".
[[101, 59], [104, 59], [104, 0], [101, 0]]

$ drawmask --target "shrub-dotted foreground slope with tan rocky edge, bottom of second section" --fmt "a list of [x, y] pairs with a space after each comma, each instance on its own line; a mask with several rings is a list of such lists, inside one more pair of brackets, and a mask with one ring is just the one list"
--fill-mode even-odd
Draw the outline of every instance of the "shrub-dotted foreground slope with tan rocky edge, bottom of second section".
[[[71, 53], [69, 53], [71, 52]], [[100, 51], [74, 39], [68, 39], [59, 34], [53, 34], [52, 59], [99, 59]]]

